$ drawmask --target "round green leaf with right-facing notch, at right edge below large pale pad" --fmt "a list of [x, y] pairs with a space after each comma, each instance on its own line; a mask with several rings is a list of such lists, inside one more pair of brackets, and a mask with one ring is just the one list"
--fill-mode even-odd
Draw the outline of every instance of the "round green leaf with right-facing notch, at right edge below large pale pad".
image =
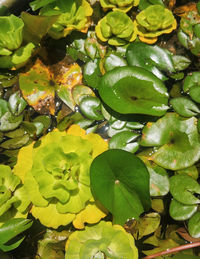
[[200, 194], [200, 185], [191, 176], [174, 175], [170, 178], [170, 192], [179, 202], [192, 205], [200, 203], [194, 194]]

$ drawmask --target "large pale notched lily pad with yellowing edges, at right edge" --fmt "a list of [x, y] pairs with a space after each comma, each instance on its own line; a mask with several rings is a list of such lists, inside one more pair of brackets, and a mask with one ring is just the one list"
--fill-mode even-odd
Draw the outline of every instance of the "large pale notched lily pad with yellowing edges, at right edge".
[[200, 158], [197, 119], [167, 113], [157, 122], [147, 123], [140, 144], [157, 147], [150, 159], [161, 167], [179, 170], [192, 166]]

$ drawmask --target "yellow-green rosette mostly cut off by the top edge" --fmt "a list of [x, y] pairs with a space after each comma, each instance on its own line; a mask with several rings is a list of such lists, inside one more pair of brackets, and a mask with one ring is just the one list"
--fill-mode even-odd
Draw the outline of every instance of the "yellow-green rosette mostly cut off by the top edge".
[[139, 5], [140, 0], [100, 0], [104, 10], [112, 9], [113, 11], [128, 12], [133, 6]]

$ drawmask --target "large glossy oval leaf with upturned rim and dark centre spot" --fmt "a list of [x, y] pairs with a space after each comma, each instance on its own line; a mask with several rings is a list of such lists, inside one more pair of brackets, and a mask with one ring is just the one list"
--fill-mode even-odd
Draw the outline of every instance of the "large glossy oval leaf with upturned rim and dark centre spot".
[[99, 94], [113, 110], [127, 114], [162, 116], [168, 109], [165, 85], [140, 67], [119, 67], [101, 78]]

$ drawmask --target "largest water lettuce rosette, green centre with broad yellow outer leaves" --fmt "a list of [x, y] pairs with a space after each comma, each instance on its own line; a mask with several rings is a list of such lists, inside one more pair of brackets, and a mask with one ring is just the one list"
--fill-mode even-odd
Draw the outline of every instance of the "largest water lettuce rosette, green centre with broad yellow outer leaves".
[[106, 149], [106, 141], [94, 133], [86, 135], [78, 125], [67, 132], [50, 132], [22, 148], [14, 172], [24, 181], [32, 215], [52, 228], [72, 221], [83, 228], [84, 222], [104, 217], [90, 191], [89, 168]]

